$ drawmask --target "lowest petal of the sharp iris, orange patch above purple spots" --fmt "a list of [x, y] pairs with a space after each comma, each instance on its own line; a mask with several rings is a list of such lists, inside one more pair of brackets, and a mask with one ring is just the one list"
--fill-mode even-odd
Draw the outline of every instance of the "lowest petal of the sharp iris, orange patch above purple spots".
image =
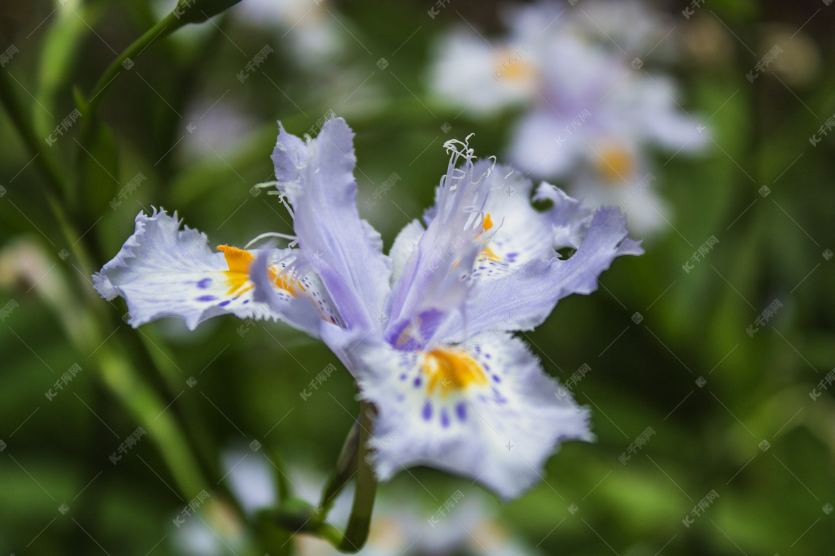
[[559, 442], [590, 439], [579, 408], [509, 334], [403, 352], [355, 349], [362, 398], [375, 404], [372, 445], [379, 478], [428, 465], [514, 498], [543, 477]]

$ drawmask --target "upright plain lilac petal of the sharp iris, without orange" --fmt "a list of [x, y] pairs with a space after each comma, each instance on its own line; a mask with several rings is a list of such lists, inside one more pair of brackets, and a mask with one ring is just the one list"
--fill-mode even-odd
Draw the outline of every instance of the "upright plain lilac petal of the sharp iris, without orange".
[[293, 206], [301, 253], [348, 328], [373, 328], [389, 293], [391, 263], [357, 211], [353, 133], [331, 118], [307, 142], [279, 123], [272, 160], [278, 190]]

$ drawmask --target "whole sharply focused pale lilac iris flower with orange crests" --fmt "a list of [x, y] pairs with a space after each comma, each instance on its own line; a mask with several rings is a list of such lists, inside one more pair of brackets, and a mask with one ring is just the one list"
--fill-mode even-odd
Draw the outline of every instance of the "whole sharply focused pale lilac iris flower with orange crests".
[[377, 409], [370, 459], [382, 480], [428, 465], [514, 498], [561, 441], [589, 440], [589, 411], [513, 332], [593, 292], [615, 257], [642, 253], [620, 209], [593, 212], [449, 141], [435, 206], [386, 255], [357, 210], [347, 123], [331, 118], [305, 140], [279, 127], [269, 187], [293, 219], [288, 248], [212, 252], [176, 214], [140, 213], [94, 276], [99, 293], [125, 298], [134, 327], [232, 313], [321, 338]]

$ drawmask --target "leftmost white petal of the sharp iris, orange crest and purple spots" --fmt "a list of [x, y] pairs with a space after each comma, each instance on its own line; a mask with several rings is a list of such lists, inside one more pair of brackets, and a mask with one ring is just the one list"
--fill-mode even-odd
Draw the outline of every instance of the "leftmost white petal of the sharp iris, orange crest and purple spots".
[[315, 277], [291, 274], [289, 249], [262, 251], [271, 261], [271, 288], [280, 300], [270, 307], [253, 299], [250, 265], [258, 252], [227, 246], [213, 252], [204, 233], [180, 229], [180, 224], [176, 213], [169, 216], [156, 209], [150, 216], [139, 213], [134, 234], [94, 274], [94, 287], [103, 298], [125, 299], [131, 326], [179, 317], [193, 330], [205, 319], [226, 313], [286, 320], [304, 329], [309, 327], [301, 321], [308, 314], [319, 320], [307, 301], [317, 290]]

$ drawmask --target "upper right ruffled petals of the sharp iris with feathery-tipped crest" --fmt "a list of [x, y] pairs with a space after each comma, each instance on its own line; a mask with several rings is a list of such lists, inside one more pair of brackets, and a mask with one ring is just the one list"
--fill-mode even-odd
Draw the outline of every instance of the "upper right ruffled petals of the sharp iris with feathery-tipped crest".
[[[424, 215], [425, 232], [411, 223], [392, 248], [397, 282], [384, 338], [400, 349], [460, 342], [488, 329], [534, 328], [559, 298], [593, 291], [597, 276], [616, 256], [642, 253], [626, 240], [620, 214], [609, 224], [614, 214], [607, 213], [606, 222], [599, 219], [592, 229], [593, 211], [578, 200], [548, 183], [534, 192], [519, 173], [473, 162], [472, 149], [461, 145], [460, 150], [447, 145], [453, 156], [435, 206]], [[464, 158], [460, 167], [459, 158]], [[539, 210], [534, 203], [549, 206]], [[587, 239], [595, 242], [583, 247]], [[566, 263], [557, 253], [561, 248], [579, 249], [571, 265], [584, 264], [593, 285], [573, 274], [564, 283], [564, 272], [557, 271]]]

